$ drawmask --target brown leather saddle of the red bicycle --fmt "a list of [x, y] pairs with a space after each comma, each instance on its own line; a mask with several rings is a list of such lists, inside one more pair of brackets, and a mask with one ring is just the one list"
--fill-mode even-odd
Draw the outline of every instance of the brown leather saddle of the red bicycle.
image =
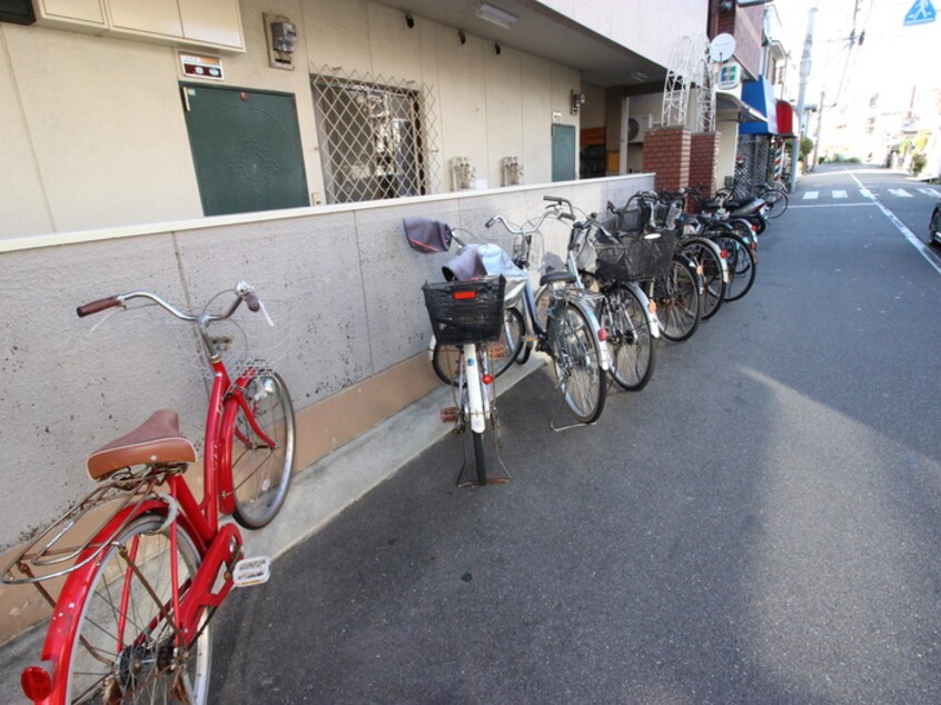
[[180, 434], [176, 411], [155, 411], [132, 431], [92, 453], [86, 461], [91, 479], [132, 465], [196, 463], [196, 448]]

